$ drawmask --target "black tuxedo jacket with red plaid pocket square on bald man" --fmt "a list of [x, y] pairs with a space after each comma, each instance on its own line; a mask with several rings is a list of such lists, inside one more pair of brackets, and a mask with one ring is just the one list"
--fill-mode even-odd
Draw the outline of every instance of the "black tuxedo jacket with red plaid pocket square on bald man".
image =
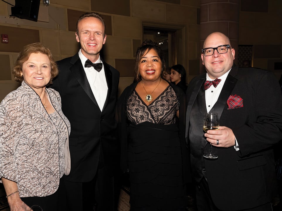
[[[205, 80], [206, 73], [193, 78], [186, 92], [186, 142], [190, 145], [192, 169], [201, 168], [202, 157], [194, 155], [203, 156], [199, 150], [209, 147], [207, 142], [203, 146], [203, 143], [189, 140], [189, 128], [193, 124], [190, 111]], [[228, 109], [230, 95], [239, 95], [243, 107]], [[276, 190], [271, 147], [282, 138], [282, 99], [278, 80], [269, 71], [234, 65], [212, 109], [219, 114], [220, 125], [232, 129], [239, 144], [239, 151], [234, 147], [213, 147], [218, 159], [204, 159], [214, 204], [220, 210], [243, 210], [270, 202]], [[197, 171], [193, 172], [197, 177]]]

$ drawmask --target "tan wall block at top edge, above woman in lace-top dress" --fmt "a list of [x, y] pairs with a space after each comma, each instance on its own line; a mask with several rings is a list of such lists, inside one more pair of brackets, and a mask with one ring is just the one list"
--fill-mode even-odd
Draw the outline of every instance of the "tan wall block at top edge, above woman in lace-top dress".
[[165, 4], [157, 1], [132, 0], [132, 17], [165, 20]]

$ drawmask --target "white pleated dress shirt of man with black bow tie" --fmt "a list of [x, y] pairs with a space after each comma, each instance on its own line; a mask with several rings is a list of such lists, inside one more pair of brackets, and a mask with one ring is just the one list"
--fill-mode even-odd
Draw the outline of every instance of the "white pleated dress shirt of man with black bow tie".
[[[78, 55], [86, 73], [86, 77], [90, 84], [93, 95], [98, 103], [100, 110], [102, 111], [108, 93], [108, 85], [105, 76], [104, 64], [101, 71], [98, 72], [94, 69], [94, 67], [84, 67], [87, 58], [81, 53], [81, 49], [79, 50]], [[94, 63], [102, 63], [100, 56], [98, 60]]]

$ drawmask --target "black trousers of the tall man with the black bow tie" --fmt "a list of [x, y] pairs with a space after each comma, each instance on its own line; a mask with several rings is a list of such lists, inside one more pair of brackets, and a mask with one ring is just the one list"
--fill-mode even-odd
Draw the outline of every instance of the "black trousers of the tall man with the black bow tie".
[[63, 176], [59, 189], [59, 210], [65, 211], [115, 211], [116, 195], [114, 177], [106, 169], [98, 169], [89, 182], [71, 182]]

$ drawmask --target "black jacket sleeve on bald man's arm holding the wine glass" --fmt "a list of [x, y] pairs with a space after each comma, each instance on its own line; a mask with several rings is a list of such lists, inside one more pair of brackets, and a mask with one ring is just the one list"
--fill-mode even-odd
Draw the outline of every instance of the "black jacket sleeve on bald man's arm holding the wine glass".
[[265, 150], [282, 138], [282, 96], [277, 79], [268, 71], [257, 81], [250, 90], [254, 92], [250, 118], [255, 121], [233, 130], [239, 156]]

